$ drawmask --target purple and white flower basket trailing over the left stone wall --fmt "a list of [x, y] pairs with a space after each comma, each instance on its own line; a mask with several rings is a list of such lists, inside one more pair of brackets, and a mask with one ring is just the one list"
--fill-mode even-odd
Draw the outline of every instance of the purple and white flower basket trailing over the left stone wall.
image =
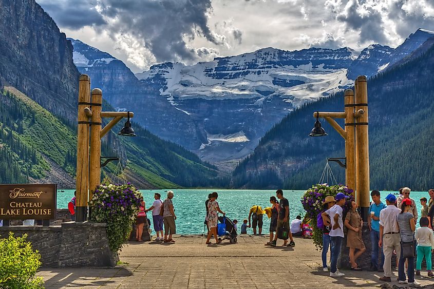
[[140, 191], [130, 183], [103, 184], [97, 187], [89, 202], [91, 221], [107, 223], [107, 238], [112, 252], [117, 253], [128, 240], [139, 211]]

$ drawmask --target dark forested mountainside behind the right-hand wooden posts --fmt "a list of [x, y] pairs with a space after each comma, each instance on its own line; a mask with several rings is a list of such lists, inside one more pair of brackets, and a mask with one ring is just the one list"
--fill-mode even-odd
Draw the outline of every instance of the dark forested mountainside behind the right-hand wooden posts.
[[[386, 70], [368, 81], [370, 187], [397, 190], [427, 190], [434, 177], [434, 46], [413, 60]], [[316, 183], [326, 158], [344, 157], [344, 140], [322, 121], [329, 133], [308, 137], [314, 111], [343, 111], [343, 91], [301, 106], [276, 124], [258, 147], [234, 170], [234, 187], [254, 187], [256, 177], [274, 170], [278, 176], [264, 180], [284, 188], [305, 189]], [[343, 120], [337, 120], [343, 127]], [[338, 182], [345, 169], [334, 165]]]

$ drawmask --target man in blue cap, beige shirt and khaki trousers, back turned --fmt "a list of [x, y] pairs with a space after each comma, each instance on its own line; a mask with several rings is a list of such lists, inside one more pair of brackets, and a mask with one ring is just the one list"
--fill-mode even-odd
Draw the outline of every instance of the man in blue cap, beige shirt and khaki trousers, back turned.
[[380, 241], [378, 245], [383, 247], [384, 252], [384, 276], [380, 278], [380, 281], [385, 282], [391, 282], [391, 258], [393, 250], [397, 253], [397, 262], [401, 254], [400, 234], [397, 222], [397, 215], [401, 212], [401, 209], [395, 207], [396, 199], [392, 194], [387, 195], [387, 207], [380, 211]]

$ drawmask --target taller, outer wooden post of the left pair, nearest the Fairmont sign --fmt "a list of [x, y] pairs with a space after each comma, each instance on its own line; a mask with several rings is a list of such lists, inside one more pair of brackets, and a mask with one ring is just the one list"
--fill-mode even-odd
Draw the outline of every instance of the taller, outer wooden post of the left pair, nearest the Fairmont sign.
[[76, 178], [76, 222], [86, 220], [89, 174], [89, 123], [85, 113], [87, 103], [90, 102], [90, 78], [86, 74], [80, 75], [79, 109], [77, 126], [77, 178]]

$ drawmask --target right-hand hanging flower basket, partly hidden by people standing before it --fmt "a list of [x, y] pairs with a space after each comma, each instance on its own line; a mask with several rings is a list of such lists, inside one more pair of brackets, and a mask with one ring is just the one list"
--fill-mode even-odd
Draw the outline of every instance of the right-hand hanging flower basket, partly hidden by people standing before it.
[[[338, 184], [329, 186], [328, 184], [316, 184], [313, 185], [310, 189], [308, 189], [303, 197], [301, 198], [301, 204], [303, 204], [303, 208], [306, 210], [306, 214], [308, 218], [311, 220], [310, 225], [313, 228], [313, 243], [316, 246], [316, 249], [323, 248], [323, 230], [318, 228], [316, 225], [317, 216], [320, 212], [323, 211], [323, 202], [325, 201], [327, 196], [336, 196], [338, 192], [342, 192], [343, 194], [350, 196], [348, 199], [349, 202], [354, 200], [354, 197], [351, 195], [353, 190], [348, 187]], [[348, 202], [344, 205], [344, 216], [347, 213], [349, 207]]]

